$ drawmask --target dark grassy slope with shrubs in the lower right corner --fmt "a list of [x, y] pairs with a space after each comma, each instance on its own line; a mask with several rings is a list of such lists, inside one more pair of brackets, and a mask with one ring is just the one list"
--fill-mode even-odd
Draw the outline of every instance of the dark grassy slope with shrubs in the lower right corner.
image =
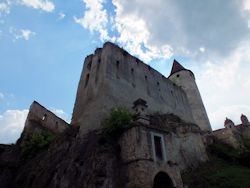
[[184, 183], [192, 188], [250, 187], [248, 149], [235, 149], [216, 140], [207, 148], [210, 161], [183, 174]]

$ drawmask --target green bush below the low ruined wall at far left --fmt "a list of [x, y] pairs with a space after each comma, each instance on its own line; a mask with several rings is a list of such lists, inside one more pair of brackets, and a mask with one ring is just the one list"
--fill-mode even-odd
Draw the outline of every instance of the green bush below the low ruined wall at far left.
[[54, 140], [55, 135], [51, 132], [34, 133], [30, 138], [24, 140], [21, 145], [22, 155], [24, 157], [34, 156], [39, 151], [48, 148]]

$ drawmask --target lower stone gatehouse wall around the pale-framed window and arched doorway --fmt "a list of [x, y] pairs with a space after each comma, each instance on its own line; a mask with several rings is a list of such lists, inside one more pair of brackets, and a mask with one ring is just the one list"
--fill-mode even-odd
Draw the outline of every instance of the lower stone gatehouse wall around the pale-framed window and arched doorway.
[[[152, 134], [162, 135], [165, 159], [155, 160]], [[153, 187], [158, 172], [165, 172], [176, 187], [182, 187], [180, 173], [207, 160], [200, 133], [164, 132], [144, 126], [126, 131], [119, 140], [121, 161], [126, 169], [126, 187]]]

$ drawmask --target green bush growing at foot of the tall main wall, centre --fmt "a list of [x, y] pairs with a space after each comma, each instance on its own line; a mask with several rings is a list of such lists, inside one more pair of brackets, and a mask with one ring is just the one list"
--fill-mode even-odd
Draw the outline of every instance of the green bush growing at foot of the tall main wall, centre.
[[105, 121], [105, 132], [111, 135], [119, 134], [130, 125], [132, 119], [133, 114], [125, 107], [112, 108]]

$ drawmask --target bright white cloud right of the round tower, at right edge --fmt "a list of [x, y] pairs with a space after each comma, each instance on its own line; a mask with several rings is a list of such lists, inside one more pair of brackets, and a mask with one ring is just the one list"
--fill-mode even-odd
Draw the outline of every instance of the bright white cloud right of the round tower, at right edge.
[[250, 41], [241, 43], [230, 56], [210, 58], [196, 70], [197, 83], [213, 129], [226, 117], [239, 123], [241, 113], [250, 116]]

